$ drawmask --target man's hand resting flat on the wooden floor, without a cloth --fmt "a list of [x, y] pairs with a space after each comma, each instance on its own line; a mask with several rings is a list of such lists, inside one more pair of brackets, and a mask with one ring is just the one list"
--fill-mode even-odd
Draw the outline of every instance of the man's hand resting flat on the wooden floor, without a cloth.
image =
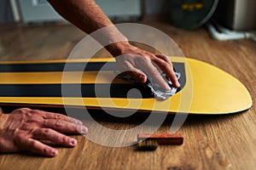
[[58, 150], [45, 144], [73, 147], [77, 140], [62, 133], [87, 133], [77, 119], [61, 114], [22, 108], [10, 114], [0, 113], [0, 151], [29, 150], [44, 156], [56, 156]]

